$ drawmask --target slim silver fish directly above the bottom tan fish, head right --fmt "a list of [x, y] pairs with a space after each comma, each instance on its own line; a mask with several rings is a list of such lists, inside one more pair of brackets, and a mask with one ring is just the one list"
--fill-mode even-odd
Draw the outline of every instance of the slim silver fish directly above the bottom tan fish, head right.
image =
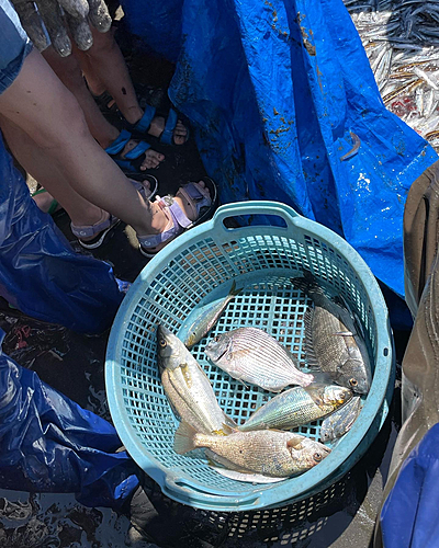
[[244, 424], [240, 432], [250, 430], [290, 430], [323, 419], [352, 398], [349, 388], [313, 384], [306, 388], [290, 388], [260, 407]]

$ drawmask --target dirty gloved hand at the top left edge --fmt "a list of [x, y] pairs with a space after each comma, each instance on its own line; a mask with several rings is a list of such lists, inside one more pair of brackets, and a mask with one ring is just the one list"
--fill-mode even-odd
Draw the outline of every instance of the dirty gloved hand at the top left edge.
[[63, 57], [71, 53], [69, 34], [79, 49], [87, 50], [93, 44], [89, 24], [99, 32], [111, 26], [111, 16], [103, 0], [11, 0], [21, 24], [34, 46], [43, 50], [49, 43], [43, 24], [55, 50]]

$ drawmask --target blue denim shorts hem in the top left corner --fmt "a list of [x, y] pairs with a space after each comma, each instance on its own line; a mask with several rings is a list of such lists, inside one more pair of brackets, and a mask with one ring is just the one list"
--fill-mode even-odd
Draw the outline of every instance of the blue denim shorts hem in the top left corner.
[[0, 93], [19, 76], [32, 42], [9, 0], [0, 0]]

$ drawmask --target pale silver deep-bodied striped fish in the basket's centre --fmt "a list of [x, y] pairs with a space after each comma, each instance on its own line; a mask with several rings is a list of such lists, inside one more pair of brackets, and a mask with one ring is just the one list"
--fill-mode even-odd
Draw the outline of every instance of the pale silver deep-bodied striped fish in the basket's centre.
[[285, 386], [308, 386], [314, 376], [297, 369], [292, 354], [258, 328], [238, 328], [222, 333], [204, 349], [206, 356], [230, 377], [264, 390], [279, 392]]

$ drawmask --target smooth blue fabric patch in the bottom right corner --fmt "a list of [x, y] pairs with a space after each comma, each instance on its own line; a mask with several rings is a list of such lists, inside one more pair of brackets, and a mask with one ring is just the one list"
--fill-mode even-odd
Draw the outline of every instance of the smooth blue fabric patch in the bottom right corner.
[[439, 546], [439, 424], [435, 424], [401, 467], [381, 511], [385, 548]]

